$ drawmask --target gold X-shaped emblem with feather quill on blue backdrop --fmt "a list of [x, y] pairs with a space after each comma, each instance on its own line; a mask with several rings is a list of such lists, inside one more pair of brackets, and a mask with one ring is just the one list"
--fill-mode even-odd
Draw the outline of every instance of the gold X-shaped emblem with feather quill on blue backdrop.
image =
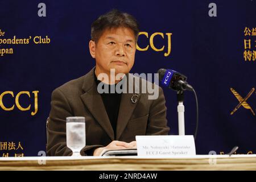
[[253, 94], [255, 88], [252, 88], [251, 91], [247, 94], [247, 96], [245, 98], [242, 98], [240, 96], [240, 94], [233, 88], [230, 88], [230, 90], [234, 94], [234, 96], [237, 98], [237, 100], [239, 101], [239, 104], [234, 108], [234, 110], [230, 113], [230, 115], [234, 114], [241, 106], [245, 107], [245, 109], [250, 109], [251, 113], [253, 113], [253, 115], [255, 115], [251, 106], [246, 102], [248, 100], [248, 98], [251, 96], [251, 94]]

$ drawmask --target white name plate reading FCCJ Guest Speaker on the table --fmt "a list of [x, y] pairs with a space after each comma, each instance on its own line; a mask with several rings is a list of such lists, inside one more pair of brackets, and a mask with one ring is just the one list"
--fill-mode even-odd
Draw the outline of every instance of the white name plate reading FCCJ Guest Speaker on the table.
[[138, 156], [196, 155], [193, 135], [136, 136]]

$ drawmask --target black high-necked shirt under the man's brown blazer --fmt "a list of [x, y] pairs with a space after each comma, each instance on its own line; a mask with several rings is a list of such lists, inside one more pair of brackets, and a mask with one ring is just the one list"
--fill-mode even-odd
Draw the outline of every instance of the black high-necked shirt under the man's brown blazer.
[[[94, 72], [94, 78], [96, 81], [96, 85], [98, 86], [98, 84], [100, 84], [101, 81], [97, 79], [95, 72]], [[104, 89], [105, 86], [107, 86], [109, 92], [101, 94], [101, 98], [102, 98], [102, 101], [104, 102], [106, 113], [108, 114], [109, 121], [112, 125], [115, 135], [116, 135], [115, 132], [117, 129], [117, 118], [118, 118], [119, 106], [120, 106], [121, 96], [122, 96], [122, 93], [116, 93], [116, 92], [110, 93], [110, 86], [114, 87], [114, 90], [115, 90], [116, 85], [117, 84], [112, 84], [112, 85], [104, 84], [102, 88]]]

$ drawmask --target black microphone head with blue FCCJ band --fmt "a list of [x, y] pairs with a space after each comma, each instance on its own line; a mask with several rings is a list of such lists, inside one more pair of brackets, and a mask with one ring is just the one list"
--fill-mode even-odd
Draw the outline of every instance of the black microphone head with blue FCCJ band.
[[157, 73], [159, 73], [159, 81], [162, 82], [164, 86], [167, 86], [172, 90], [193, 90], [193, 87], [187, 82], [187, 77], [179, 72], [172, 69], [161, 68]]

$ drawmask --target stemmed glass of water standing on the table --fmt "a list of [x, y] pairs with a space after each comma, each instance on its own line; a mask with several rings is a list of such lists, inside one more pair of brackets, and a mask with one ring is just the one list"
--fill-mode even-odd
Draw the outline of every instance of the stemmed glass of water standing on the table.
[[85, 118], [67, 117], [67, 147], [73, 152], [72, 156], [81, 156], [80, 151], [85, 147]]

